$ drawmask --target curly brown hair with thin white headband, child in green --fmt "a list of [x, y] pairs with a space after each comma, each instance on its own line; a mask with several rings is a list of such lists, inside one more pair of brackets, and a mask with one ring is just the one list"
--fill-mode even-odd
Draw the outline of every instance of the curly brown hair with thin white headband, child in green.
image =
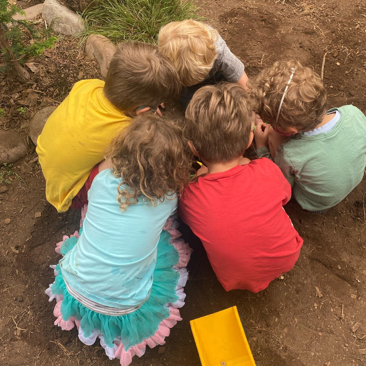
[[[295, 74], [286, 92], [279, 119], [276, 116], [286, 84], [291, 75], [291, 67]], [[322, 122], [326, 112], [326, 90], [320, 76], [299, 61], [277, 61], [262, 70], [250, 82], [249, 93], [255, 103], [255, 112], [263, 122], [274, 127], [300, 127], [313, 129]]]

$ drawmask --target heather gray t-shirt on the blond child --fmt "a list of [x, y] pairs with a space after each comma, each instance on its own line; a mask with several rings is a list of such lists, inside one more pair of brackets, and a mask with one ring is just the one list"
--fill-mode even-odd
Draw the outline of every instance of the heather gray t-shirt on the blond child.
[[226, 42], [219, 35], [216, 42], [217, 59], [214, 62], [214, 70], [221, 71], [227, 81], [236, 83], [244, 73], [244, 64], [232, 53]]

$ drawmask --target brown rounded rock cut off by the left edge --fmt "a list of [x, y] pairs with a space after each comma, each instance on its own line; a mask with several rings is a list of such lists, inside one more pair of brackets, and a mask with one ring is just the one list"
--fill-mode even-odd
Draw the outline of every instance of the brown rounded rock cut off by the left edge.
[[25, 139], [15, 131], [0, 131], [0, 165], [20, 160], [27, 153]]

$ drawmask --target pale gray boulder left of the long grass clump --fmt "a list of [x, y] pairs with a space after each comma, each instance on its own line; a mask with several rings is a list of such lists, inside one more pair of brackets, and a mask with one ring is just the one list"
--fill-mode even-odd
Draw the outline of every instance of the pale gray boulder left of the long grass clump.
[[[53, 29], [65, 36], [74, 36], [85, 30], [81, 16], [61, 5], [56, 0], [43, 3], [42, 18], [49, 24], [55, 20]], [[58, 19], [56, 19], [58, 18]]]

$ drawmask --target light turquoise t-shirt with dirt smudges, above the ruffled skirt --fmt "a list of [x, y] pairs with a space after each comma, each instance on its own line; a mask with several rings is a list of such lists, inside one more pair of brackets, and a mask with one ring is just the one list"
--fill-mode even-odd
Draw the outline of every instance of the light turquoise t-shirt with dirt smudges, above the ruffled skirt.
[[174, 195], [154, 207], [141, 196], [138, 203], [121, 211], [117, 201], [120, 182], [111, 169], [94, 178], [82, 234], [61, 259], [60, 269], [70, 287], [86, 298], [129, 308], [149, 297], [157, 243], [178, 200]]

